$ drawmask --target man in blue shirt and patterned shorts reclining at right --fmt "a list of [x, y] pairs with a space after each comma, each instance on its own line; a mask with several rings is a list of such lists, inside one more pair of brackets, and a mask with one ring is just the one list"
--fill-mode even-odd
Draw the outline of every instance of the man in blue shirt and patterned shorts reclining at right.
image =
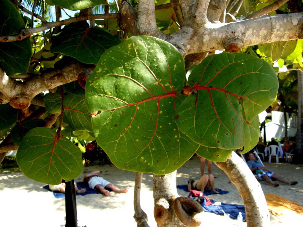
[[272, 179], [276, 179], [279, 182], [288, 184], [288, 185], [296, 185], [298, 184], [297, 181], [286, 181], [282, 179], [281, 177], [277, 176], [275, 173], [272, 171], [269, 171], [263, 166], [260, 161], [255, 160], [254, 153], [249, 153], [248, 155], [249, 161], [247, 161], [247, 165], [250, 168], [250, 170], [254, 173], [257, 174], [259, 179], [262, 180], [264, 179], [266, 182], [270, 183], [271, 185], [278, 187], [279, 184], [275, 183], [272, 181]]

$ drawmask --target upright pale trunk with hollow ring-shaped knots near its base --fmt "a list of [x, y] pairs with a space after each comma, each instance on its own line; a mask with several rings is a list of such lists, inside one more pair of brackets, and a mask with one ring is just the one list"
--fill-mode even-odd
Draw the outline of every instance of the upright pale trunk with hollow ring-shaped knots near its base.
[[166, 175], [154, 175], [154, 216], [158, 226], [186, 227], [201, 224], [202, 206], [188, 197], [179, 197], [174, 171]]

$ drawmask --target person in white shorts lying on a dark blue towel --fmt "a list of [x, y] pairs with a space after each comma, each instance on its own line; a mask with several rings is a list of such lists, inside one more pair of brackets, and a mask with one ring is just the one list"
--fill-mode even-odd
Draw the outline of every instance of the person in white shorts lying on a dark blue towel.
[[130, 187], [127, 187], [125, 189], [117, 188], [111, 182], [108, 182], [107, 180], [100, 177], [100, 171], [99, 170], [93, 171], [89, 174], [84, 175], [83, 181], [85, 183], [87, 183], [88, 186], [91, 189], [95, 189], [97, 191], [100, 191], [100, 193], [102, 193], [106, 196], [111, 195], [111, 193], [106, 189], [110, 189], [110, 190], [112, 190], [113, 192], [116, 192], [116, 193], [127, 193], [128, 189], [130, 188]]

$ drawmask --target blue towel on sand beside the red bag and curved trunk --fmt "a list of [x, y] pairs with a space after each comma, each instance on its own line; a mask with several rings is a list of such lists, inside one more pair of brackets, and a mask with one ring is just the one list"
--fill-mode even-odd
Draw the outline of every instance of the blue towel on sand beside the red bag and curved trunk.
[[[210, 202], [214, 204], [216, 201], [210, 199]], [[202, 207], [205, 212], [213, 212], [215, 214], [224, 214], [224, 211], [225, 213], [229, 214], [230, 218], [233, 219], [237, 219], [239, 212], [241, 212], [243, 216], [243, 222], [246, 222], [245, 208], [243, 205], [221, 203], [221, 205], [215, 206], [205, 206], [204, 204], [202, 204]]]

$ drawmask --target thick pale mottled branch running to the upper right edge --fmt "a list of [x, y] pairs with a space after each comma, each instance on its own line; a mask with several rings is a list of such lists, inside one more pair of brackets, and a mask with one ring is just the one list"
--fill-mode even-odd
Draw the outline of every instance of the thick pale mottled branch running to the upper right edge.
[[195, 29], [184, 26], [166, 41], [186, 56], [217, 49], [237, 52], [245, 46], [302, 38], [303, 13], [291, 13], [265, 15], [228, 24], [212, 23]]

